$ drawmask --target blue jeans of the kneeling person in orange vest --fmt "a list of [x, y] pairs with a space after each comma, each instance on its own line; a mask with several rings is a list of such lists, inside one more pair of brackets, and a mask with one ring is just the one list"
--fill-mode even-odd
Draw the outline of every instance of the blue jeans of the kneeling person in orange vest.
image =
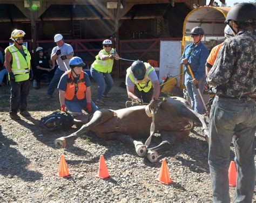
[[[85, 110], [86, 109], [86, 99], [82, 100], [82, 101], [69, 101], [69, 100], [65, 100], [65, 106], [66, 108], [71, 111], [71, 112], [75, 112], [75, 113], [82, 113], [82, 109]], [[91, 107], [92, 107], [92, 113], [95, 113], [95, 111], [99, 110], [99, 108], [95, 105], [95, 103], [91, 100]], [[87, 113], [89, 113], [86, 110]]]

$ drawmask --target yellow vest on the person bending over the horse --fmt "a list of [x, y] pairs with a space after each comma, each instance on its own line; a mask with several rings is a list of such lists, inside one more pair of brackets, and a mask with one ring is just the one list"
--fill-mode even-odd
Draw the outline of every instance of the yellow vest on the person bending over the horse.
[[145, 74], [145, 78], [142, 81], [138, 81], [134, 77], [131, 67], [127, 68], [126, 73], [128, 74], [131, 81], [137, 86], [139, 91], [149, 92], [149, 90], [152, 87], [152, 82], [149, 79], [149, 74], [154, 70], [154, 68], [147, 62], [144, 62], [144, 64], [146, 66], [146, 74]]

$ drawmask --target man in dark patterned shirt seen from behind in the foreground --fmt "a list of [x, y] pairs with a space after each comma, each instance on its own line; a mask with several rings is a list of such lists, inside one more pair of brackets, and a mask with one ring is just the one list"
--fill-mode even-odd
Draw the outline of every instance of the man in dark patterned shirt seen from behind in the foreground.
[[216, 86], [209, 124], [209, 155], [214, 202], [230, 202], [228, 166], [233, 138], [237, 186], [234, 202], [252, 202], [256, 126], [256, 9], [240, 3], [226, 21], [235, 37], [224, 41], [206, 79]]

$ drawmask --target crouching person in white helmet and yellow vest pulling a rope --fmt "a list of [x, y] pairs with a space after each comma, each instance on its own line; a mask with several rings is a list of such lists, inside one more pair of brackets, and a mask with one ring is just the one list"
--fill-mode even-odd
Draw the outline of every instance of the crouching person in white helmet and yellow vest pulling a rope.
[[99, 51], [99, 54], [95, 57], [96, 60], [91, 65], [92, 78], [98, 83], [98, 95], [95, 102], [98, 105], [104, 105], [102, 98], [108, 98], [107, 93], [109, 93], [114, 85], [110, 73], [112, 72], [114, 60], [119, 60], [119, 55], [112, 48], [112, 41], [110, 39], [105, 39], [102, 45], [103, 50]]

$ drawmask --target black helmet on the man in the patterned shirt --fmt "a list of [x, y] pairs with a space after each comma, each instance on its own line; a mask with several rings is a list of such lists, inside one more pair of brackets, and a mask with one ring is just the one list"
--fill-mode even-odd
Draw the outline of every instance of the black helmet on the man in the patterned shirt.
[[230, 20], [240, 23], [256, 22], [256, 8], [250, 3], [235, 4], [227, 13], [225, 23]]

